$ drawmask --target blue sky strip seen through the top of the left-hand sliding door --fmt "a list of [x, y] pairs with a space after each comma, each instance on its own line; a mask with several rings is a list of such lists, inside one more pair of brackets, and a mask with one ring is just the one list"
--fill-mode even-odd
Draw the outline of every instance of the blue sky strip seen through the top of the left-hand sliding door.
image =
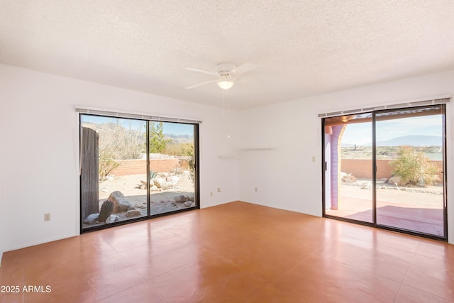
[[[121, 118], [111, 118], [111, 117], [103, 117], [103, 116], [82, 116], [82, 122], [87, 123], [109, 123], [118, 121], [121, 126], [126, 128], [132, 129], [145, 129], [145, 121], [143, 120], [133, 120], [133, 119], [121, 119]], [[159, 122], [156, 122], [159, 123]], [[164, 126], [163, 133], [165, 134], [173, 134], [173, 135], [194, 135], [194, 126], [192, 124], [184, 124], [184, 123], [170, 123], [170, 122], [163, 122], [162, 125]]]

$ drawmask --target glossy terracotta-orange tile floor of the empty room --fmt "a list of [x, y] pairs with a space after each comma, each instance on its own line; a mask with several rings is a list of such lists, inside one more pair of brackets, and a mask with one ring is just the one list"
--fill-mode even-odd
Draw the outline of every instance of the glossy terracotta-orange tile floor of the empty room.
[[454, 302], [454, 246], [233, 202], [4, 253], [0, 285], [21, 288], [0, 302]]

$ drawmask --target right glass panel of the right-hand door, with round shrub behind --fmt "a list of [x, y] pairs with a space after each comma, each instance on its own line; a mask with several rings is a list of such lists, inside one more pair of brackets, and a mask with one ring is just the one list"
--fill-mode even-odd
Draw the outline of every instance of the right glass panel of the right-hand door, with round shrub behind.
[[445, 236], [443, 109], [380, 111], [375, 115], [377, 224]]

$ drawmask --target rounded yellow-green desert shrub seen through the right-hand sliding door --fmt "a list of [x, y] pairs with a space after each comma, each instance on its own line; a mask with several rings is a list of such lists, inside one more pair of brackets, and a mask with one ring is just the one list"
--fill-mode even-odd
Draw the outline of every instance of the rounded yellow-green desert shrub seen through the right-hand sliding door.
[[390, 164], [394, 167], [393, 175], [400, 177], [402, 184], [428, 186], [440, 180], [437, 165], [411, 146], [402, 146], [397, 159]]

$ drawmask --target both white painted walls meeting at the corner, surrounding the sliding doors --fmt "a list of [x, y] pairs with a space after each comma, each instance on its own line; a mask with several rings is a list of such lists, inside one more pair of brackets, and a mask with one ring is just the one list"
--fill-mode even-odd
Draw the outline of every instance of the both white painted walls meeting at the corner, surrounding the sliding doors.
[[[317, 114], [441, 94], [454, 94], [454, 71], [262, 106], [227, 120], [219, 108], [0, 65], [0, 252], [79, 233], [75, 104], [202, 119], [202, 207], [240, 199], [321, 216]], [[452, 106], [448, 180], [454, 179]], [[272, 149], [238, 150], [248, 147]], [[218, 158], [231, 154], [238, 158]], [[49, 222], [43, 220], [47, 212]], [[448, 222], [453, 221], [449, 199]], [[448, 232], [454, 243], [454, 224]]]

